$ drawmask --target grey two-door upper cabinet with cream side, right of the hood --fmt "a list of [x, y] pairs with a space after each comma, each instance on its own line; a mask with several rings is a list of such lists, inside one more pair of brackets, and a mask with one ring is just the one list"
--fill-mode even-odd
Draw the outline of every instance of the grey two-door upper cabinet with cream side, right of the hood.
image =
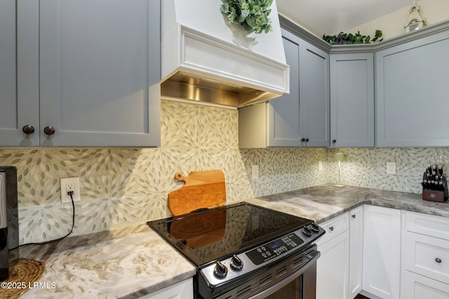
[[329, 54], [282, 29], [290, 95], [239, 109], [239, 147], [327, 147]]

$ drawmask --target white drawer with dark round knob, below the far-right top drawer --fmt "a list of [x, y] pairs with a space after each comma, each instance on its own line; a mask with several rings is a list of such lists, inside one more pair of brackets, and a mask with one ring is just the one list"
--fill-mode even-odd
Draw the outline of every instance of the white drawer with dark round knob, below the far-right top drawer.
[[449, 241], [407, 232], [406, 270], [449, 281]]

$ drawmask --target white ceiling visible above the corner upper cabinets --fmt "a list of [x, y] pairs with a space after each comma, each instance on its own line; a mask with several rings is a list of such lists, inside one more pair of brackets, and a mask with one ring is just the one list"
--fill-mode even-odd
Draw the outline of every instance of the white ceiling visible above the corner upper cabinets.
[[316, 34], [338, 34], [365, 24], [413, 0], [276, 0], [278, 11]]

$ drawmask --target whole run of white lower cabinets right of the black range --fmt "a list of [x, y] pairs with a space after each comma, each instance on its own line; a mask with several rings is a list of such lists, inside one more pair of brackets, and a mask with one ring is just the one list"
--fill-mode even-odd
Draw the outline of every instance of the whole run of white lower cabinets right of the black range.
[[366, 204], [319, 225], [317, 299], [449, 299], [449, 218]]

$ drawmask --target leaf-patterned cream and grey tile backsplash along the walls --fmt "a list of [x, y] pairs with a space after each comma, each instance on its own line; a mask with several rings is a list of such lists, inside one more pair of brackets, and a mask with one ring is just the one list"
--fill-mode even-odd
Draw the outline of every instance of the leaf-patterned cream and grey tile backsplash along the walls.
[[[66, 235], [72, 204], [60, 200], [60, 179], [79, 176], [74, 235], [170, 216], [175, 172], [221, 169], [227, 203], [337, 181], [335, 149], [239, 149], [238, 111], [161, 102], [159, 148], [0, 148], [0, 165], [18, 168], [20, 244]], [[439, 149], [447, 154], [447, 149]], [[342, 182], [420, 193], [434, 148], [343, 148]], [[437, 150], [438, 151], [438, 150]], [[323, 170], [318, 163], [323, 161]], [[396, 162], [397, 175], [386, 175]], [[260, 179], [251, 179], [259, 165]]]

